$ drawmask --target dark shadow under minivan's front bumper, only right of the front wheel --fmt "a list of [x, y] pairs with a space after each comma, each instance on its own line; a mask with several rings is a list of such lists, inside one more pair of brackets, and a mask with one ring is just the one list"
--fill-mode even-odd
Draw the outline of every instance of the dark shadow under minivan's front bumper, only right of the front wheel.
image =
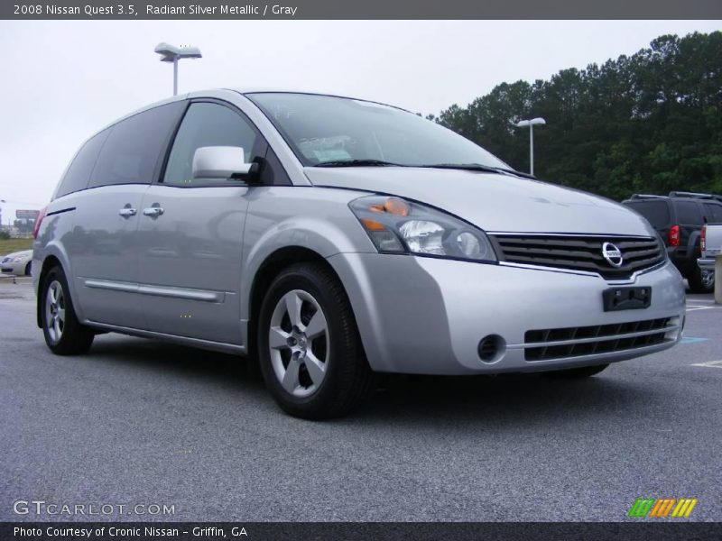
[[420, 422], [544, 426], [624, 417], [640, 401], [663, 403], [663, 390], [615, 375], [614, 365], [591, 378], [554, 380], [540, 374], [392, 376], [357, 414], [370, 424]]

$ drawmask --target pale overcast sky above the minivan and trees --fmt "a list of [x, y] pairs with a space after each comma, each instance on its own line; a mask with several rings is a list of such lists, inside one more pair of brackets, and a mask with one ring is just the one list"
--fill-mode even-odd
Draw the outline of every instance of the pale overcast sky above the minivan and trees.
[[153, 53], [161, 41], [202, 51], [180, 62], [179, 93], [313, 90], [427, 115], [665, 33], [717, 30], [722, 21], [2, 21], [3, 223], [47, 204], [90, 135], [172, 94], [171, 65]]

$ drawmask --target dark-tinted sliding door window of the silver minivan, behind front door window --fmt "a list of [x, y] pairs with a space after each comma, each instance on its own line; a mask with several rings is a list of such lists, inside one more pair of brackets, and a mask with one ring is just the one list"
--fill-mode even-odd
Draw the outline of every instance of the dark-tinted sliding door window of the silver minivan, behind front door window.
[[154, 107], [111, 128], [89, 187], [150, 184], [183, 102]]

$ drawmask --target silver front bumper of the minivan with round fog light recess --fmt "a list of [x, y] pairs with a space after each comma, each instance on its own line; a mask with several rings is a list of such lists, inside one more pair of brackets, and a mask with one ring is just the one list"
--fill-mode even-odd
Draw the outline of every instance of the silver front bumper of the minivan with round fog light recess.
[[[616, 312], [603, 310], [602, 291], [612, 285], [598, 276], [376, 253], [339, 253], [329, 263], [346, 286], [375, 371], [548, 371], [623, 361], [676, 344], [684, 321], [684, 286], [669, 261], [630, 284], [652, 287], [650, 307]], [[650, 321], [662, 325], [663, 321], [662, 331], [657, 331], [663, 335], [659, 343], [640, 346], [629, 339], [646, 327], [622, 324], [641, 321], [644, 325]], [[527, 331], [615, 325], [619, 333], [611, 337], [612, 344], [618, 338], [619, 344], [634, 342], [633, 348], [608, 351], [606, 347], [595, 353], [588, 353], [594, 348], [576, 348], [573, 351], [587, 353], [527, 360], [532, 356], [528, 353], [532, 343], [525, 343]], [[484, 362], [479, 343], [488, 335], [498, 338], [499, 350], [490, 362]], [[553, 340], [560, 335], [549, 336]], [[532, 342], [539, 346], [538, 338]]]

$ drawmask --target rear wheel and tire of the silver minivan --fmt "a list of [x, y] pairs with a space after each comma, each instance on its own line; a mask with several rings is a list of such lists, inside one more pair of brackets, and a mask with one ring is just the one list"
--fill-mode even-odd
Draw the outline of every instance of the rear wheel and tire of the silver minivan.
[[56, 355], [88, 353], [95, 333], [78, 321], [68, 280], [60, 266], [53, 267], [43, 278], [38, 302], [42, 335], [51, 352]]

